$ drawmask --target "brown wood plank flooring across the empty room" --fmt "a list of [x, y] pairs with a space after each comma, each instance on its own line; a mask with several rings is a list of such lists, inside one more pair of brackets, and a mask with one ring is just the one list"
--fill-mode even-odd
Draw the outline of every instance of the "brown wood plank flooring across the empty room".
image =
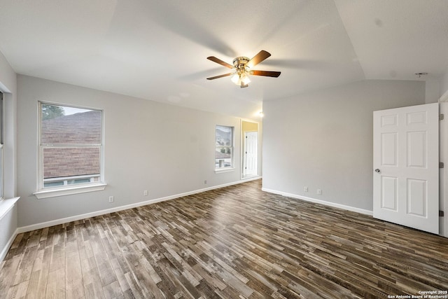
[[22, 233], [0, 264], [0, 298], [446, 294], [448, 239], [260, 185]]

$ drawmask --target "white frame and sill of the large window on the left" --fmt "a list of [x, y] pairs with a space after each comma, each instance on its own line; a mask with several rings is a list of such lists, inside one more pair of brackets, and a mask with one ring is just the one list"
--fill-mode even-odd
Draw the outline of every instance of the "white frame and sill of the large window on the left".
[[[78, 109], [88, 109], [94, 111], [101, 111], [102, 113], [102, 130], [101, 130], [101, 143], [100, 144], [41, 144], [41, 132], [42, 132], [42, 105], [54, 105]], [[78, 183], [78, 184], [66, 184], [67, 179], [74, 179], [74, 177], [60, 178], [64, 181], [62, 186], [56, 187], [44, 187], [43, 179], [43, 149], [44, 148], [66, 148], [66, 147], [99, 147], [99, 181], [90, 183]], [[37, 191], [33, 193], [38, 199], [47, 197], [57, 197], [62, 195], [71, 195], [78, 193], [86, 193], [92, 191], [104, 190], [106, 183], [104, 182], [104, 111], [102, 109], [95, 109], [85, 106], [72, 106], [69, 104], [60, 104], [52, 102], [38, 101], [38, 174], [37, 174]]]

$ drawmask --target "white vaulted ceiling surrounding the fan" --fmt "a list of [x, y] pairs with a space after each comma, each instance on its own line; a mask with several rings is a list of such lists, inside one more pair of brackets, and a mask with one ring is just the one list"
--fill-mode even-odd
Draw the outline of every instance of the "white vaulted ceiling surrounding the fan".
[[[248, 88], [207, 81], [272, 54]], [[253, 118], [262, 102], [448, 67], [446, 0], [0, 0], [0, 51], [18, 74]]]

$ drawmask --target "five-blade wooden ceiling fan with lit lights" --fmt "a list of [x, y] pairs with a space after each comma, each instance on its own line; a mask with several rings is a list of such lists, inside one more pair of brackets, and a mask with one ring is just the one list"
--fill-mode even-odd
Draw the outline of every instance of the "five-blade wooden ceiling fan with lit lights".
[[251, 69], [252, 67], [255, 67], [255, 65], [259, 64], [260, 62], [262, 62], [269, 56], [271, 56], [270, 53], [268, 53], [265, 50], [261, 50], [251, 60], [249, 60], [248, 57], [235, 58], [235, 60], [233, 60], [233, 65], [228, 64], [227, 62], [223, 62], [223, 60], [220, 60], [214, 56], [207, 57], [207, 59], [211, 60], [212, 62], [216, 62], [218, 64], [223, 65], [224, 67], [228, 67], [229, 69], [232, 69], [232, 73], [210, 77], [210, 78], [207, 78], [207, 80], [214, 80], [217, 78], [232, 76], [231, 80], [233, 83], [235, 83], [236, 85], [239, 85], [241, 88], [246, 88], [246, 87], [248, 87], [248, 83], [251, 82], [248, 75], [266, 76], [266, 77], [275, 77], [276, 78], [276, 77], [280, 76], [280, 74], [281, 74], [279, 71], [255, 71], [254, 69]]

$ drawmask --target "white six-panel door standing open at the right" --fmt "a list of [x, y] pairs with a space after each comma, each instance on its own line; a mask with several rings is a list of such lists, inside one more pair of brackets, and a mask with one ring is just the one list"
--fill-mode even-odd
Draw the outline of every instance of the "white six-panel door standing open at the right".
[[373, 113], [373, 216], [439, 233], [439, 104]]

